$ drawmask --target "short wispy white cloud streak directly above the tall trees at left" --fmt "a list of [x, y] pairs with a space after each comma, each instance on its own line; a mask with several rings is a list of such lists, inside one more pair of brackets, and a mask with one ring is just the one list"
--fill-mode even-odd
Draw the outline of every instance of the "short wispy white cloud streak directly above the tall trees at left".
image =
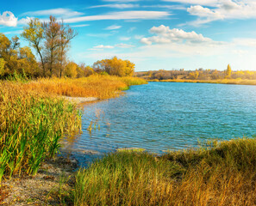
[[78, 15], [84, 15], [84, 13], [74, 11], [72, 9], [46, 9], [46, 10], [38, 10], [38, 11], [28, 11], [23, 13], [22, 15], [32, 15], [32, 16], [48, 16], [48, 15], [56, 15], [56, 16], [65, 16], [72, 17]]

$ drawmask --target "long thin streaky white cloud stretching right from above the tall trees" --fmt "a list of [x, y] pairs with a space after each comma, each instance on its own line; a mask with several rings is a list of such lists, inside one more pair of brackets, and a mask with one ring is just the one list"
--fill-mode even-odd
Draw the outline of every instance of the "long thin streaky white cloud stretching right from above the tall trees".
[[74, 17], [64, 20], [66, 23], [74, 23], [80, 21], [99, 21], [99, 20], [153, 20], [164, 19], [171, 14], [166, 11], [145, 11], [145, 10], [133, 10], [133, 11], [121, 11], [112, 12], [105, 15], [87, 15]]

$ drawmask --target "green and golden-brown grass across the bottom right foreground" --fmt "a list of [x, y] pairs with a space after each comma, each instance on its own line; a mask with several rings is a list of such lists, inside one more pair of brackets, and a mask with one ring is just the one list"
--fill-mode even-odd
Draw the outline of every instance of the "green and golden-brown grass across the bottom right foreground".
[[116, 153], [80, 169], [75, 205], [255, 205], [256, 140], [211, 148]]

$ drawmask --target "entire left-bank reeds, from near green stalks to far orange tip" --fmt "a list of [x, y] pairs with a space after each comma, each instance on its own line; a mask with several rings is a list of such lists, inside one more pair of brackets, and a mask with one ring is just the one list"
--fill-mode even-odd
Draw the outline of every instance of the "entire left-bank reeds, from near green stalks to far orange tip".
[[81, 130], [82, 112], [62, 95], [106, 99], [142, 83], [147, 82], [97, 75], [37, 81], [19, 77], [0, 82], [0, 182], [3, 175], [34, 175], [42, 161], [59, 151], [61, 137]]

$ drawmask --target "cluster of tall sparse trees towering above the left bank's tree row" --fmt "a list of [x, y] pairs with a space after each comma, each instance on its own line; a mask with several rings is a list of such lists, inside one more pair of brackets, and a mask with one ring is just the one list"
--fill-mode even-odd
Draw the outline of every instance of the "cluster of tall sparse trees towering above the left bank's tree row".
[[77, 35], [72, 28], [50, 16], [48, 22], [30, 20], [22, 37], [27, 39], [41, 58], [43, 76], [62, 76], [66, 63], [66, 51]]

